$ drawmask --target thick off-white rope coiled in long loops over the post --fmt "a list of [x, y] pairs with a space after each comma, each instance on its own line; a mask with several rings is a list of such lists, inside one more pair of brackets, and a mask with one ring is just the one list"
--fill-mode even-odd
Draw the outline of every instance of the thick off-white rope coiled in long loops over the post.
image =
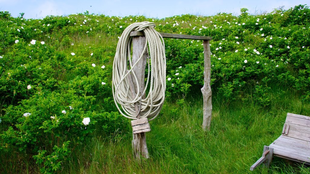
[[[153, 120], [159, 114], [165, 100], [166, 91], [166, 55], [165, 43], [162, 36], [154, 29], [153, 22], [139, 22], [129, 25], [120, 37], [113, 61], [112, 92], [115, 105], [122, 115], [130, 119], [148, 118]], [[146, 38], [146, 43], [139, 59], [132, 64], [131, 61], [131, 37], [130, 32], [142, 31]], [[137, 94], [131, 91], [131, 81], [139, 85], [133, 68], [141, 61], [145, 52], [149, 50], [148, 78], [144, 91], [140, 92], [141, 86], [137, 86]], [[150, 71], [151, 69], [151, 71]], [[150, 73], [151, 72], [151, 73]], [[132, 76], [134, 79], [132, 79]], [[143, 77], [144, 78], [144, 77]], [[149, 85], [149, 88], [148, 88]], [[149, 92], [145, 99], [142, 97]], [[141, 93], [141, 94], [140, 94]], [[119, 105], [121, 108], [119, 107]], [[138, 114], [135, 109], [138, 104]]]

